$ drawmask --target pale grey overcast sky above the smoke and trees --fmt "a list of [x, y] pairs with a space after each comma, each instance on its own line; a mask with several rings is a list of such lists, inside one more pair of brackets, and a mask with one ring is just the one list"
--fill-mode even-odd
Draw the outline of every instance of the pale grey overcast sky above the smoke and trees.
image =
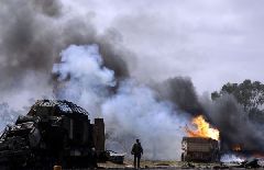
[[263, 5], [251, 0], [89, 0], [67, 2], [117, 30], [135, 54], [141, 80], [190, 77], [197, 91], [244, 79], [264, 81]]

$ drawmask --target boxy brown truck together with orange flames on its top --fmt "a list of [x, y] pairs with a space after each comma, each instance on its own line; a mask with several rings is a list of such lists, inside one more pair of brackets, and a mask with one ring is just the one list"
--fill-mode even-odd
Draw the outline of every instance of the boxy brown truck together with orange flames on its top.
[[207, 161], [216, 162], [220, 160], [219, 131], [211, 128], [210, 125], [200, 115], [193, 120], [197, 127], [191, 131], [186, 127], [188, 137], [182, 141], [183, 161]]

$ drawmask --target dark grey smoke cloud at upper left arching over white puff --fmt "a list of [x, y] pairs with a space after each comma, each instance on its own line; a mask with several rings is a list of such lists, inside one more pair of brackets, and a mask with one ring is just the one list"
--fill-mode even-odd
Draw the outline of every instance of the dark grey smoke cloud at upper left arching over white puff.
[[[52, 0], [1, 0], [0, 3], [0, 77], [4, 80], [0, 82], [2, 101], [16, 100], [15, 94], [23, 91], [31, 91], [34, 98], [51, 98], [53, 93], [50, 89], [56, 84], [51, 73], [53, 64], [59, 60], [59, 53], [70, 44], [98, 44], [105, 65], [114, 70], [117, 78], [129, 76], [124, 58], [132, 59], [132, 53], [121, 47], [117, 31], [99, 35], [91, 22], [91, 14], [70, 13], [61, 1]], [[31, 83], [21, 86], [25, 80], [42, 84], [38, 88]], [[36, 92], [31, 90], [32, 86]], [[29, 105], [28, 101], [24, 99], [20, 104], [10, 104], [21, 107]]]

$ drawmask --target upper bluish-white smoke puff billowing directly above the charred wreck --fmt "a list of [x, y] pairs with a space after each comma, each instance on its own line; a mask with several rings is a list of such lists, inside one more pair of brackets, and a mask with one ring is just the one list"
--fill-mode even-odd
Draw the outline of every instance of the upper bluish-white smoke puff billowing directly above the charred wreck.
[[[108, 95], [108, 88], [116, 84], [113, 71], [103, 67], [97, 45], [70, 45], [61, 53], [62, 63], [54, 65], [59, 73], [58, 99], [75, 101], [91, 113], [100, 113], [100, 105]], [[69, 81], [67, 81], [69, 79]]]

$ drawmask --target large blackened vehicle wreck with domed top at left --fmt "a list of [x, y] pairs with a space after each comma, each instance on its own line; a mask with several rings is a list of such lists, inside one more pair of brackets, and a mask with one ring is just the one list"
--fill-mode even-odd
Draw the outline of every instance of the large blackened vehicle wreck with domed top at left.
[[90, 123], [82, 107], [61, 100], [38, 100], [0, 136], [0, 169], [87, 168], [105, 150], [102, 118]]

